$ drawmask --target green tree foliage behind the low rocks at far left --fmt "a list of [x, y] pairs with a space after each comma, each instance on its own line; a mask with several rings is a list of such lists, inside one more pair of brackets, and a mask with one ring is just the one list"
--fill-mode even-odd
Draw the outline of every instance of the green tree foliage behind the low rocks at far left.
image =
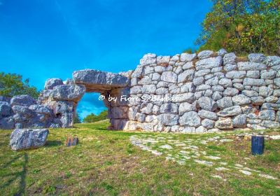
[[29, 94], [37, 98], [38, 90], [29, 85], [29, 79], [22, 80], [22, 76], [15, 73], [0, 73], [0, 95], [13, 97], [18, 94]]

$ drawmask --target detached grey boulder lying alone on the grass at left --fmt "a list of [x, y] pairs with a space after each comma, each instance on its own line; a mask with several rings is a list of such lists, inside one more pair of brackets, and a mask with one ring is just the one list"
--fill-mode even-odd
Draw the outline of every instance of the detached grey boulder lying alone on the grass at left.
[[48, 133], [48, 130], [15, 129], [10, 135], [10, 147], [18, 151], [44, 146]]

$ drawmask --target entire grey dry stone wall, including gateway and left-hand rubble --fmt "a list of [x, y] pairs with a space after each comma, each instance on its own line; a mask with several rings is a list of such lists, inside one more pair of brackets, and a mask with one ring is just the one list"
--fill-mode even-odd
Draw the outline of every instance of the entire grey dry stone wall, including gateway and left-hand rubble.
[[[99, 92], [111, 130], [217, 132], [280, 127], [280, 57], [219, 50], [147, 54], [134, 71], [85, 69], [52, 78], [38, 100], [0, 97], [0, 128], [71, 127], [85, 92]], [[115, 98], [110, 100], [110, 98]]]

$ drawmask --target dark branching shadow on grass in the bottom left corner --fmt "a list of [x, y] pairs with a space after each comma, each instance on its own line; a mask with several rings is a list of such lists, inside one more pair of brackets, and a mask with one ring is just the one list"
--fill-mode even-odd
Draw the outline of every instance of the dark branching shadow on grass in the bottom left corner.
[[[25, 153], [24, 155], [22, 155], [24, 157], [24, 162], [22, 163], [22, 171], [20, 172], [15, 172], [13, 174], [10, 174], [10, 176], [13, 176], [10, 180], [8, 180], [6, 183], [4, 183], [3, 185], [0, 186], [0, 188], [5, 188], [6, 186], [10, 186], [11, 183], [13, 183], [14, 181], [16, 181], [18, 178], [20, 178], [20, 187], [17, 193], [15, 193], [15, 195], [25, 195], [25, 188], [26, 188], [26, 174], [27, 174], [27, 163], [28, 163], [28, 155], [27, 153]], [[15, 159], [13, 159], [12, 161], [8, 162], [5, 167], [7, 165], [12, 164], [13, 162], [15, 162], [16, 160], [18, 160], [21, 156], [16, 157]]]

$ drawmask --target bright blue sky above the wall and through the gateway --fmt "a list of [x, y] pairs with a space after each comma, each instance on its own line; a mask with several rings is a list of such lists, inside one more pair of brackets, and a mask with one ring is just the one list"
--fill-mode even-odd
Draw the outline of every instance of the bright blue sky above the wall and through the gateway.
[[[135, 69], [145, 53], [194, 47], [210, 8], [209, 0], [0, 0], [0, 71], [41, 90], [79, 69]], [[97, 97], [83, 97], [80, 116], [105, 109]]]

